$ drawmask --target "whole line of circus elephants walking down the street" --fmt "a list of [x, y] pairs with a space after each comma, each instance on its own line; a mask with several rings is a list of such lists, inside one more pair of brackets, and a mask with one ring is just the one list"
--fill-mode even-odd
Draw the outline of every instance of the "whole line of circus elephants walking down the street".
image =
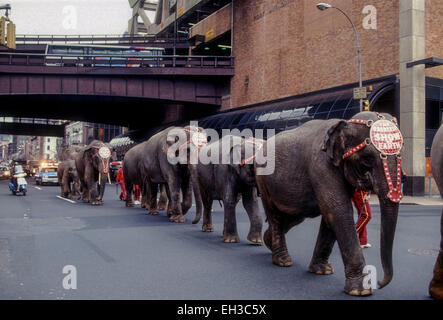
[[[242, 158], [245, 160], [241, 163], [191, 164], [189, 157], [195, 152], [192, 145], [196, 140], [193, 135], [204, 133], [200, 127], [181, 128], [186, 132], [187, 141], [179, 149], [186, 159], [171, 162], [168, 149], [177, 143], [177, 139], [171, 140], [168, 135], [177, 128], [160, 131], [125, 154], [122, 165], [126, 206], [134, 206], [132, 190], [134, 185], [139, 185], [142, 207], [156, 215], [159, 210], [166, 209], [167, 203], [170, 221], [181, 223], [192, 206], [194, 194], [196, 215], [192, 223], [198, 223], [203, 214], [202, 231], [212, 232], [212, 202], [219, 200], [224, 208], [223, 241], [231, 243], [239, 241], [235, 208], [241, 199], [250, 220], [248, 240], [257, 244], [264, 242], [272, 252], [272, 262], [281, 267], [292, 264], [286, 233], [305, 218], [321, 216], [309, 271], [319, 275], [333, 273], [329, 256], [337, 242], [345, 266], [345, 292], [367, 296], [372, 294], [372, 288], [365, 286], [363, 281], [365, 259], [355, 231], [351, 198], [355, 189], [372, 191], [379, 198], [381, 211], [380, 256], [384, 277], [378, 285], [384, 287], [392, 280], [393, 242], [402, 197], [399, 180], [403, 144], [394, 117], [365, 111], [348, 121], [312, 120], [281, 132], [273, 137], [275, 169], [267, 175], [257, 174], [263, 164], [253, 157]], [[393, 132], [394, 138], [390, 136]], [[395, 143], [392, 148], [390, 142], [399, 136], [400, 148], [395, 149]], [[220, 157], [245, 156], [246, 139], [234, 136], [224, 139], [230, 139], [232, 143], [228, 154], [220, 152]], [[221, 150], [221, 141], [209, 141], [197, 149], [200, 152]], [[260, 141], [265, 153], [269, 151], [268, 142]], [[109, 144], [97, 140], [86, 147], [67, 151], [58, 172], [62, 196], [80, 192], [84, 202], [103, 204], [103, 193], [109, 181], [109, 161], [114, 156]], [[442, 159], [443, 126], [434, 138], [431, 152], [434, 178], [443, 195]], [[76, 187], [71, 189], [71, 185]], [[258, 195], [268, 223], [263, 237]], [[443, 299], [443, 215], [440, 227], [440, 253], [429, 286], [429, 293], [437, 299]]]

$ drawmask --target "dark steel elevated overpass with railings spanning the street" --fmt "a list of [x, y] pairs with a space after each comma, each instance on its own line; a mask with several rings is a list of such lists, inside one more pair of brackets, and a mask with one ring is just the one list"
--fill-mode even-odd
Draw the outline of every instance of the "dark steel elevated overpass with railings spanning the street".
[[[45, 49], [51, 43], [92, 42], [165, 51], [122, 58]], [[187, 48], [184, 40], [175, 44]], [[234, 58], [171, 55], [171, 45], [167, 37], [17, 36], [17, 50], [0, 51], [0, 115], [140, 128], [214, 113], [229, 94]]]

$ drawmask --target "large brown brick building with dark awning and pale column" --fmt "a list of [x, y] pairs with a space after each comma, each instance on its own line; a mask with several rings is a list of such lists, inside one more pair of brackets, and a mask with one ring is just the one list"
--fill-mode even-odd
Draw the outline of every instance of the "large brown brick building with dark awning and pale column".
[[[133, 1], [139, 3], [139, 1]], [[143, 1], [144, 2], [144, 1]], [[318, 0], [159, 0], [147, 33], [188, 34], [192, 54], [232, 55], [235, 75], [206, 127], [296, 127], [360, 110], [355, 34]], [[370, 109], [404, 135], [406, 194], [425, 188], [425, 157], [443, 111], [443, 1], [330, 0], [355, 24]], [[152, 10], [152, 8], [151, 8]]]

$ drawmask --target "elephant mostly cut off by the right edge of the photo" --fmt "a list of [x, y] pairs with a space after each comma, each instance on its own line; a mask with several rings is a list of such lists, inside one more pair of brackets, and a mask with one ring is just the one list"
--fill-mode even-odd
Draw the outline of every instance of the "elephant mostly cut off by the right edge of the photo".
[[[435, 134], [431, 147], [431, 168], [435, 182], [443, 197], [443, 126]], [[434, 266], [434, 276], [429, 284], [429, 294], [443, 300], [443, 211], [440, 220], [440, 252]]]

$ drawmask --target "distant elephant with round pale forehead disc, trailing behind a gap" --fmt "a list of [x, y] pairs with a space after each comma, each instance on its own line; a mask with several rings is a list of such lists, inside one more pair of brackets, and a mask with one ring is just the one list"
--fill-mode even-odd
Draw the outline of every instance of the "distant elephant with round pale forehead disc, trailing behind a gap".
[[93, 140], [82, 148], [75, 157], [83, 202], [91, 205], [103, 204], [103, 194], [109, 180], [109, 163], [115, 158], [115, 152], [109, 144]]

